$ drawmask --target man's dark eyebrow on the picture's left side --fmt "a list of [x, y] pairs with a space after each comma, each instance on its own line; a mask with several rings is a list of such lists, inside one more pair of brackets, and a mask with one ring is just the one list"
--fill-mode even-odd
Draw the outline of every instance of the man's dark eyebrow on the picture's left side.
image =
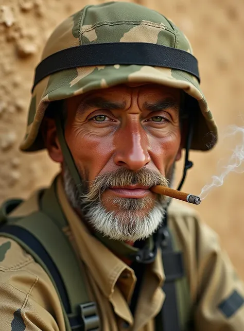
[[126, 102], [109, 101], [102, 97], [95, 97], [82, 100], [78, 107], [80, 113], [88, 111], [92, 108], [123, 110], [126, 108]]

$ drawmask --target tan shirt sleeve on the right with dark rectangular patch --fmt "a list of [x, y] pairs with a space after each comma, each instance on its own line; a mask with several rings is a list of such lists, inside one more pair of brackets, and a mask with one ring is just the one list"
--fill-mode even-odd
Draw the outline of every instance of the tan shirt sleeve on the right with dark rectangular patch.
[[196, 330], [244, 330], [244, 285], [217, 235], [200, 222], [196, 233]]

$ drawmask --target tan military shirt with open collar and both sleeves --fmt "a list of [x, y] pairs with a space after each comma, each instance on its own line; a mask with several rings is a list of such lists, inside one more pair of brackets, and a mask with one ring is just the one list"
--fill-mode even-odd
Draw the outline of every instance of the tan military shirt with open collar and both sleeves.
[[[153, 331], [153, 318], [165, 298], [161, 253], [148, 265], [133, 319], [128, 305], [136, 282], [133, 270], [86, 230], [61, 185], [58, 196], [70, 224], [64, 231], [74, 247], [77, 240], [82, 245], [82, 264], [89, 291], [99, 306], [102, 330]], [[37, 205], [36, 195], [18, 213], [36, 210]], [[244, 329], [244, 287], [221, 251], [216, 234], [184, 205], [172, 204], [169, 215], [171, 229], [184, 253], [195, 306], [195, 330]], [[0, 331], [65, 331], [59, 299], [48, 275], [16, 242], [4, 237], [0, 237], [0, 298]], [[227, 317], [230, 312], [232, 315]], [[125, 328], [124, 321], [130, 328]]]

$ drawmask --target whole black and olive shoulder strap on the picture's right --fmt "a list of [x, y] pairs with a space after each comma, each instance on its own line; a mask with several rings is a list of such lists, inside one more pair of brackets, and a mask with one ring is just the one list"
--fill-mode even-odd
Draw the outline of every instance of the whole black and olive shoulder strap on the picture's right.
[[[181, 331], [186, 330], [188, 316], [182, 314], [181, 302], [189, 306], [189, 288], [184, 273], [182, 253], [175, 247], [173, 234], [168, 227], [161, 230], [163, 238], [161, 243], [162, 260], [165, 272], [165, 301], [161, 311], [155, 318], [156, 331]], [[183, 298], [182, 298], [183, 296]], [[186, 309], [187, 311], [187, 309]]]

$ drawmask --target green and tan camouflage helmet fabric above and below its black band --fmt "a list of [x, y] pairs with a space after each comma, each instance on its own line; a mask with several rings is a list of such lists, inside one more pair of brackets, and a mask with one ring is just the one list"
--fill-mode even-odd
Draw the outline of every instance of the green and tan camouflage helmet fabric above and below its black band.
[[[185, 35], [162, 14], [133, 3], [110, 2], [86, 6], [63, 21], [48, 39], [42, 60], [75, 46], [107, 43], [156, 44], [183, 50], [182, 55], [193, 54]], [[182, 89], [197, 100], [194, 103], [196, 116], [190, 147], [208, 150], [215, 145], [217, 127], [195, 75], [167, 65], [162, 67], [132, 62], [76, 66], [61, 68], [56, 72], [50, 70], [32, 89], [27, 130], [21, 150], [45, 148], [39, 129], [50, 102], [118, 84], [141, 82]]]

